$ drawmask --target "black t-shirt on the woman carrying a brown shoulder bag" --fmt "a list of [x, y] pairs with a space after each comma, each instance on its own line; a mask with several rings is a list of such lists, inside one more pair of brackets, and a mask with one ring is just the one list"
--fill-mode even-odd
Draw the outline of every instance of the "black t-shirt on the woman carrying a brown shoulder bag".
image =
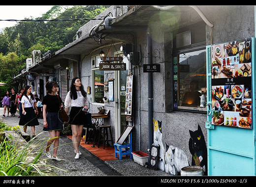
[[60, 104], [62, 103], [62, 98], [59, 98], [57, 95], [49, 95], [44, 96], [42, 105], [46, 105], [47, 112], [58, 112], [60, 110]]

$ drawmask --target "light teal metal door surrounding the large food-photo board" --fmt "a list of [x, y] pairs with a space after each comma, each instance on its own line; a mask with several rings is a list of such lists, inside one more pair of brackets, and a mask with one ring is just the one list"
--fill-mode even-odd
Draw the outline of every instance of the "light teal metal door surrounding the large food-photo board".
[[[224, 125], [214, 125], [213, 103], [212, 103], [212, 46], [206, 47], [207, 63], [207, 151], [208, 151], [208, 175], [209, 176], [255, 176], [256, 175], [256, 55], [255, 43], [252, 40], [252, 61], [251, 61], [251, 84], [252, 84], [252, 104], [251, 119], [252, 128], [243, 129], [228, 127]], [[235, 41], [233, 41], [235, 42]], [[234, 43], [233, 43], [234, 44]], [[240, 57], [240, 54], [239, 54]], [[224, 58], [221, 58], [224, 59]], [[224, 63], [223, 63], [224, 64]], [[224, 66], [221, 65], [220, 69]], [[241, 62], [239, 64], [243, 65]], [[249, 64], [250, 65], [250, 64]], [[213, 67], [214, 68], [214, 67]], [[214, 75], [214, 74], [213, 74]], [[220, 75], [220, 74], [219, 74]], [[236, 79], [237, 80], [237, 79]], [[216, 82], [216, 79], [214, 80]], [[222, 84], [222, 80], [218, 80]], [[242, 82], [241, 84], [246, 84]], [[213, 84], [215, 85], [215, 84]], [[234, 110], [233, 110], [234, 111]], [[239, 117], [239, 116], [237, 116]], [[241, 116], [240, 116], [241, 117]], [[239, 117], [239, 118], [240, 118]]]

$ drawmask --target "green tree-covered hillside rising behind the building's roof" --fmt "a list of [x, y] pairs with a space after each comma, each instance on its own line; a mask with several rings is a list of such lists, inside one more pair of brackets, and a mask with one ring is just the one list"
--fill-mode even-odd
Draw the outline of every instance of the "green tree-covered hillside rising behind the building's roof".
[[[92, 19], [108, 7], [55, 5], [39, 18], [24, 19]], [[31, 58], [33, 50], [53, 53], [72, 42], [77, 30], [87, 22], [20, 21], [13, 27], [5, 27], [0, 32], [0, 82], [10, 84], [12, 78], [26, 65], [26, 59]]]

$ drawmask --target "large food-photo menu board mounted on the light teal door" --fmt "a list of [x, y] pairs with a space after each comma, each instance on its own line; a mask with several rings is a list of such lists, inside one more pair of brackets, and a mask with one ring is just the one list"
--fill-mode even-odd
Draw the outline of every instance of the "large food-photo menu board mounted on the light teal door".
[[252, 40], [211, 46], [212, 124], [252, 129]]

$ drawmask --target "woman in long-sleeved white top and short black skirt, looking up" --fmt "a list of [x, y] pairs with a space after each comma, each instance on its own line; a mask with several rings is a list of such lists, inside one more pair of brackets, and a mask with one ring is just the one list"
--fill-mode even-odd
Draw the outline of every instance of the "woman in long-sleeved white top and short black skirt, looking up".
[[72, 79], [70, 91], [66, 95], [64, 105], [66, 112], [68, 112], [68, 107], [71, 107], [69, 124], [72, 129], [72, 141], [76, 153], [75, 159], [79, 159], [79, 156], [82, 154], [78, 150], [78, 147], [80, 145], [83, 127], [87, 123], [85, 121], [86, 113], [83, 109], [86, 108], [88, 110], [89, 102], [84, 86], [78, 77]]

